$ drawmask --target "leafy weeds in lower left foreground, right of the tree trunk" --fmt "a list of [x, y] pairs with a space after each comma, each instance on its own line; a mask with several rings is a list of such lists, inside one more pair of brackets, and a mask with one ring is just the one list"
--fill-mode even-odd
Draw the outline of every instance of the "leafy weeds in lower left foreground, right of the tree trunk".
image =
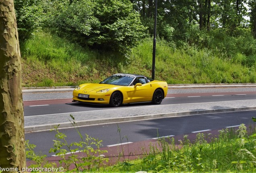
[[[80, 171], [97, 171], [109, 161], [104, 157], [106, 150], [101, 150], [102, 140], [95, 139], [85, 134], [85, 137], [81, 134], [74, 117], [72, 123], [74, 129], [78, 133], [81, 141], [68, 143], [67, 136], [61, 133], [58, 129], [59, 125], [54, 127], [51, 131], [56, 132], [56, 139], [54, 141], [53, 148], [50, 149], [50, 153], [55, 153], [55, 156], [59, 156], [59, 165], [63, 166], [62, 171], [80, 172]], [[26, 145], [26, 158], [33, 161], [30, 168], [52, 168], [57, 167], [57, 164], [46, 159], [46, 155], [38, 155], [34, 152], [36, 147], [33, 144], [29, 144], [29, 141], [25, 141]], [[76, 153], [83, 153], [83, 155], [77, 155]]]

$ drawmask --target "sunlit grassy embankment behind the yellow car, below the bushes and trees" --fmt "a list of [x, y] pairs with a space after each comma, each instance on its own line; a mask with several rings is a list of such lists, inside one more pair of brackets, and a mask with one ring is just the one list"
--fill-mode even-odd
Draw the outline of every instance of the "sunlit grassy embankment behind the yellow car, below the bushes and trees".
[[[169, 84], [192, 83], [254, 83], [256, 65], [241, 64], [241, 54], [227, 57], [218, 50], [198, 49], [157, 40], [155, 79]], [[126, 58], [82, 48], [46, 33], [21, 44], [23, 87], [77, 85], [99, 82], [110, 74], [135, 73], [151, 76], [152, 39], [146, 38]]]

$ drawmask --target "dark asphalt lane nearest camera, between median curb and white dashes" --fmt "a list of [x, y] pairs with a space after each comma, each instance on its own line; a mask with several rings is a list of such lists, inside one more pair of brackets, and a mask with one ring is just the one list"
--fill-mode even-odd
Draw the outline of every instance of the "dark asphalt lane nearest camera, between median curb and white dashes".
[[[227, 127], [237, 127], [244, 123], [252, 125], [252, 116], [256, 116], [256, 111], [239, 111], [231, 113], [215, 113], [204, 115], [193, 115], [185, 117], [173, 117], [164, 119], [152, 119], [147, 121], [132, 121], [126, 123], [113, 123], [106, 125], [95, 125], [79, 127], [82, 135], [87, 134], [96, 139], [103, 140], [102, 147], [122, 143], [135, 143], [138, 141], [150, 140], [156, 137], [186, 135], [192, 133], [212, 133], [214, 129], [225, 129]], [[120, 128], [120, 134], [118, 132]], [[74, 128], [61, 129], [67, 136], [68, 143], [81, 141]], [[36, 133], [26, 133], [25, 139], [29, 143], [36, 145], [35, 152], [47, 156], [54, 155], [49, 153], [53, 147], [54, 131], [41, 131]]]

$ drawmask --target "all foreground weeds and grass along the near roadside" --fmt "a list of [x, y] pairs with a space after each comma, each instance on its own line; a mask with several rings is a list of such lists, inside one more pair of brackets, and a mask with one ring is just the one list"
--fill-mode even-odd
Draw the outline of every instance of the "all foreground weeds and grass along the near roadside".
[[[72, 124], [75, 127], [74, 117]], [[101, 142], [98, 139], [81, 135], [76, 128], [81, 141], [67, 143], [66, 135], [55, 127], [57, 140], [54, 140], [54, 147], [51, 152], [60, 156], [60, 164], [65, 166], [66, 171], [99, 171], [99, 172], [119, 172], [119, 171], [148, 171], [148, 172], [255, 172], [256, 171], [256, 128], [250, 125], [250, 135], [247, 128], [241, 124], [237, 130], [232, 128], [219, 131], [218, 137], [211, 134], [204, 135], [198, 133], [196, 140], [192, 143], [188, 136], [184, 135], [183, 140], [178, 141], [180, 147], [176, 146], [175, 139], [159, 138], [157, 143], [150, 143], [149, 153], [144, 153], [146, 157], [134, 161], [124, 161], [118, 165], [104, 167], [104, 162], [108, 159], [103, 157]], [[122, 143], [121, 130], [118, 133]], [[210, 142], [207, 142], [210, 141]], [[95, 147], [93, 147], [94, 145]], [[30, 167], [56, 167], [53, 163], [48, 163], [45, 155], [36, 155], [33, 151], [35, 145], [26, 142], [26, 155], [28, 159], [35, 162]], [[66, 149], [65, 149], [66, 148]], [[85, 156], [78, 157], [75, 153], [85, 153]], [[67, 156], [66, 154], [70, 154]], [[121, 156], [121, 154], [120, 154]], [[124, 149], [122, 149], [124, 157]], [[75, 168], [72, 169], [71, 165]]]

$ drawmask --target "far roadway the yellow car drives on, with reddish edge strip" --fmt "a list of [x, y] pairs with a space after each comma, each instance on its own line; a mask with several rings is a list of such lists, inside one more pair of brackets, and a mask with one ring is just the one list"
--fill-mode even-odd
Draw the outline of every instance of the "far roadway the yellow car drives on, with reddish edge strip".
[[[204, 92], [204, 90], [206, 90], [206, 92]], [[239, 89], [236, 88], [236, 91], [234, 90], [235, 89], [233, 88], [229, 88], [229, 89], [213, 88], [211, 90], [209, 88], [191, 89], [191, 90], [175, 89], [175, 93], [171, 94], [171, 92], [174, 92], [174, 89], [169, 89], [168, 90], [169, 94], [163, 100], [161, 105], [256, 99], [256, 87], [245, 87], [245, 88], [239, 88]], [[181, 91], [183, 91], [183, 93], [181, 93]], [[187, 92], [187, 93], [184, 93], [184, 92]], [[192, 92], [196, 92], [196, 93], [192, 93]], [[51, 95], [54, 99], [48, 99]], [[32, 96], [34, 99], [32, 98]], [[72, 97], [71, 91], [23, 93], [23, 97], [25, 98], [24, 100], [25, 116], [58, 114], [58, 113], [74, 113], [74, 112], [81, 112], [81, 111], [112, 109], [108, 105], [89, 105], [89, 104], [81, 104], [81, 103], [72, 103], [72, 99], [70, 99]], [[41, 98], [42, 100], [37, 100], [38, 98]], [[27, 99], [33, 99], [33, 100], [27, 100]], [[152, 104], [151, 103], [126, 104], [116, 109], [130, 107], [130, 106], [145, 107], [149, 105], [152, 105]]]

